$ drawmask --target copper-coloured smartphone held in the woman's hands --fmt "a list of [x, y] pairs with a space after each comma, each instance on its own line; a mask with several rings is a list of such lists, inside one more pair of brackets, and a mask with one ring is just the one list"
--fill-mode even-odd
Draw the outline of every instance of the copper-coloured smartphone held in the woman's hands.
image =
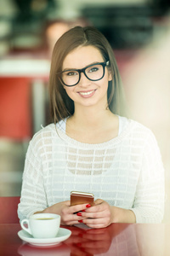
[[94, 194], [80, 191], [71, 191], [71, 206], [90, 204], [94, 206]]

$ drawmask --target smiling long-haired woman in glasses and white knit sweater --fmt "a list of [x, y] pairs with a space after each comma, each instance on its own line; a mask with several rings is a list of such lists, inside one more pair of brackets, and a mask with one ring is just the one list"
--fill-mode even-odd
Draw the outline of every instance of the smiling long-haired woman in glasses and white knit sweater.
[[[104, 35], [74, 27], [54, 46], [49, 77], [53, 123], [26, 154], [19, 217], [55, 212], [61, 224], [160, 223], [164, 170], [152, 132], [122, 117], [122, 84]], [[71, 190], [93, 207], [71, 207]], [[82, 212], [81, 212], [82, 211]], [[77, 212], [77, 214], [74, 214]]]

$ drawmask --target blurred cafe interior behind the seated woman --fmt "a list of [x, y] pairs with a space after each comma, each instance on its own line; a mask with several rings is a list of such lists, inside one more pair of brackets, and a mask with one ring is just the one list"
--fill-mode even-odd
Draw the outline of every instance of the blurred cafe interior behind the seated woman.
[[76, 25], [96, 26], [108, 38], [130, 118], [156, 135], [170, 222], [169, 0], [0, 0], [0, 196], [20, 195], [28, 143], [49, 122], [54, 42]]

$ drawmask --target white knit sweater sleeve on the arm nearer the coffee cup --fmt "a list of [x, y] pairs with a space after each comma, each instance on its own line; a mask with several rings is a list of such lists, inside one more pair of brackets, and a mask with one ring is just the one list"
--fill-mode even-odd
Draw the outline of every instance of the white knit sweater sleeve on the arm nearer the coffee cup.
[[42, 175], [41, 153], [34, 139], [26, 153], [18, 216], [20, 221], [48, 207]]

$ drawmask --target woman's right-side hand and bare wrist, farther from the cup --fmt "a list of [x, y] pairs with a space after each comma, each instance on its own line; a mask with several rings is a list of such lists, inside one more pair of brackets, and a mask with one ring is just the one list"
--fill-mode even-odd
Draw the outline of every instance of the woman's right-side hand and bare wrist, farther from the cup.
[[94, 201], [94, 207], [88, 207], [85, 212], [81, 212], [81, 215], [82, 223], [94, 229], [105, 228], [111, 223], [135, 223], [136, 221], [133, 211], [111, 207], [101, 199]]

